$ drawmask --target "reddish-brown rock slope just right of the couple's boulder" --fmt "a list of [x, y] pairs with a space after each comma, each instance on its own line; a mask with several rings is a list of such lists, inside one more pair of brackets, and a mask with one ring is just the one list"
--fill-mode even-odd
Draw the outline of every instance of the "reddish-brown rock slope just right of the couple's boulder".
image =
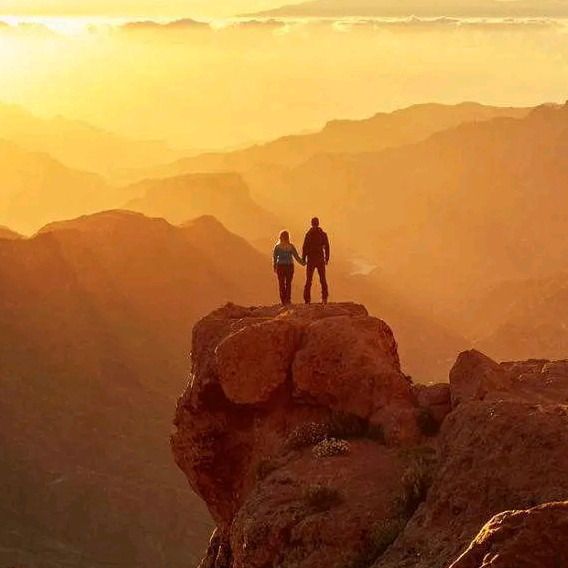
[[[469, 351], [458, 357], [449, 389], [454, 410], [435, 438], [433, 483], [375, 568], [445, 568], [494, 515], [568, 498], [566, 362], [497, 363]], [[435, 391], [414, 391], [422, 404], [436, 400]]]

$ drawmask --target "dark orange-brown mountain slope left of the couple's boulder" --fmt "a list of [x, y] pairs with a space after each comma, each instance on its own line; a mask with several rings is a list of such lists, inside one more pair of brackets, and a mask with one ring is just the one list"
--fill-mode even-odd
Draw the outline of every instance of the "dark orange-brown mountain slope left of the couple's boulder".
[[172, 408], [191, 325], [268, 301], [260, 266], [208, 219], [109, 212], [0, 240], [3, 565], [196, 565], [211, 527], [171, 460]]

